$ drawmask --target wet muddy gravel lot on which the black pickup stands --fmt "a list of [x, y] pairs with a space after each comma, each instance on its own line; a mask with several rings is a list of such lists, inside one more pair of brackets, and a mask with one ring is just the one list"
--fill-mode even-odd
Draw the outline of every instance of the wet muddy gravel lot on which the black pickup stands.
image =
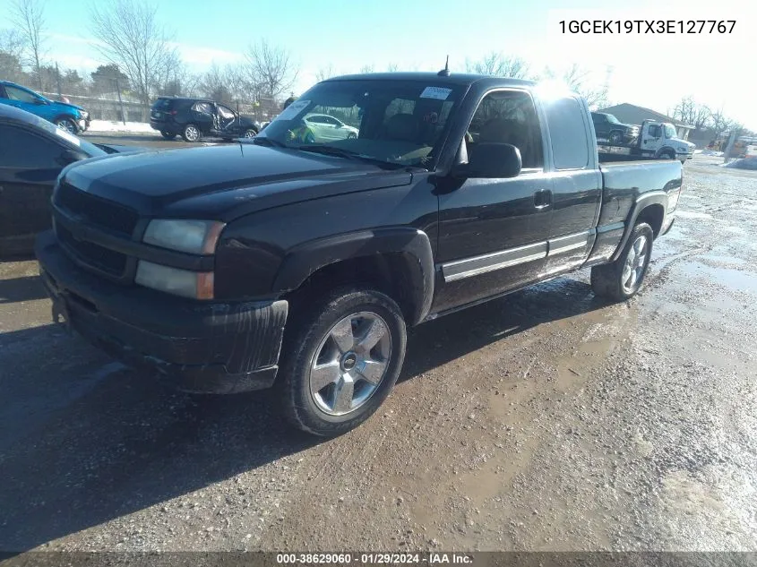
[[757, 549], [757, 173], [717, 162], [632, 302], [581, 271], [419, 327], [328, 442], [112, 362], [0, 264], [0, 550]]

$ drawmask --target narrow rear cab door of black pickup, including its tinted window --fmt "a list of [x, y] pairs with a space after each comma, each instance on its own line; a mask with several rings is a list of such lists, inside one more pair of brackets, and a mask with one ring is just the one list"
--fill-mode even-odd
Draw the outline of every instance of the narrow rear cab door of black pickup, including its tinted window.
[[602, 174], [586, 102], [572, 94], [540, 102], [552, 176], [552, 224], [542, 273], [546, 277], [577, 268], [589, 257], [602, 202]]

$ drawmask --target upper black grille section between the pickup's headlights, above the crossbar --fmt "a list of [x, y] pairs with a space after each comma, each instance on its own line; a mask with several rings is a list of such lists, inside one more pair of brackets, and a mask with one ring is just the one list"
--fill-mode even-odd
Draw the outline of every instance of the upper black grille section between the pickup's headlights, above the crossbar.
[[67, 183], [58, 186], [56, 205], [77, 217], [82, 217], [90, 224], [129, 236], [132, 235], [139, 219], [135, 210], [80, 191]]

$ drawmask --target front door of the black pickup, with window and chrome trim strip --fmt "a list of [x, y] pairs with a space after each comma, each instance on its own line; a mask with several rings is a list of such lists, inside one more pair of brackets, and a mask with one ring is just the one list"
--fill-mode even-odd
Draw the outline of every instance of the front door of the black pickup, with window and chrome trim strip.
[[480, 142], [511, 143], [520, 150], [523, 169], [508, 179], [467, 179], [440, 194], [434, 312], [520, 288], [538, 278], [546, 259], [552, 180], [529, 93], [487, 93], [466, 139], [469, 153]]

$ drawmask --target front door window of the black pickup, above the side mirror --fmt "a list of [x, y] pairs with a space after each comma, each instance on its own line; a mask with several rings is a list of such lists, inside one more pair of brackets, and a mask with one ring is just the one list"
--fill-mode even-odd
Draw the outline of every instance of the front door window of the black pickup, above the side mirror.
[[490, 92], [470, 121], [469, 150], [481, 142], [510, 143], [520, 150], [523, 168], [544, 168], [544, 149], [536, 107], [530, 95], [514, 90]]

